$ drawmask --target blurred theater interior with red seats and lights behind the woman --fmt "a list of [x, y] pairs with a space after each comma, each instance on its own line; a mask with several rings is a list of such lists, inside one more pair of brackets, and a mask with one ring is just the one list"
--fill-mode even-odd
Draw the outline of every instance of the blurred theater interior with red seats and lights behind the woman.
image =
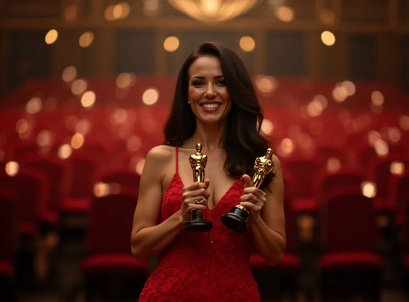
[[403, 301], [409, 1], [1, 0], [0, 300], [138, 300], [148, 150], [203, 41], [254, 80], [285, 179], [265, 301]]

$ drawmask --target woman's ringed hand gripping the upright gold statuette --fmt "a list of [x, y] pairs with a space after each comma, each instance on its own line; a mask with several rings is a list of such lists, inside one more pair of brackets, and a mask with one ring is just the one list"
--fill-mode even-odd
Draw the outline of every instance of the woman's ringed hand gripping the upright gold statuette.
[[[193, 210], [205, 210], [208, 204], [210, 193], [208, 191], [210, 180], [206, 179], [204, 183], [193, 183], [182, 190], [182, 206], [180, 208], [181, 216], [184, 221], [192, 219]], [[194, 203], [201, 200], [200, 203]]]

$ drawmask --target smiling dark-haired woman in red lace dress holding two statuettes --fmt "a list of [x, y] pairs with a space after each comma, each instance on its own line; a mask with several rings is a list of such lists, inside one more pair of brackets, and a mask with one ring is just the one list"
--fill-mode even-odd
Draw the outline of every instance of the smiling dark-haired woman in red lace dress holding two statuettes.
[[[249, 264], [253, 243], [271, 265], [285, 249], [284, 185], [275, 155], [262, 190], [250, 187], [255, 159], [268, 148], [262, 119], [239, 57], [221, 44], [201, 44], [179, 72], [165, 144], [150, 150], [141, 177], [132, 254], [138, 260], [160, 254], [160, 260], [140, 301], [260, 300]], [[206, 179], [193, 183], [189, 156], [199, 142], [208, 157]], [[220, 222], [238, 204], [251, 212], [246, 234]], [[213, 222], [210, 232], [183, 230], [194, 209]]]

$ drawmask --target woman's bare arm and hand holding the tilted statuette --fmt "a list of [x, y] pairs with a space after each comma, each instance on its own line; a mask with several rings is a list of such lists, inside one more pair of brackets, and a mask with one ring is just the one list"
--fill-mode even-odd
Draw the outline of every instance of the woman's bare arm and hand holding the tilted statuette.
[[[284, 182], [280, 161], [272, 156], [276, 177], [269, 183], [267, 192], [250, 188], [251, 179], [243, 175], [246, 195], [241, 197], [241, 205], [250, 209], [248, 219], [257, 252], [268, 264], [279, 263], [285, 250]], [[259, 200], [260, 199], [260, 200]], [[248, 201], [245, 201], [248, 200]], [[244, 202], [244, 203], [243, 203]], [[258, 215], [262, 210], [261, 217]]]

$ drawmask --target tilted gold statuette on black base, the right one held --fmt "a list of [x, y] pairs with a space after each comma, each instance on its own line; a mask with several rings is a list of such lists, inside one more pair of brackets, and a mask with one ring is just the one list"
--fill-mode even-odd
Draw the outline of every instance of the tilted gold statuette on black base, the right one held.
[[[255, 173], [252, 178], [251, 187], [259, 188], [265, 178], [265, 175], [270, 173], [275, 166], [271, 160], [272, 149], [268, 148], [264, 156], [256, 158], [254, 163]], [[238, 232], [246, 233], [248, 231], [247, 219], [250, 212], [243, 206], [237, 205], [232, 207], [230, 213], [221, 216], [221, 222], [229, 229]]]

